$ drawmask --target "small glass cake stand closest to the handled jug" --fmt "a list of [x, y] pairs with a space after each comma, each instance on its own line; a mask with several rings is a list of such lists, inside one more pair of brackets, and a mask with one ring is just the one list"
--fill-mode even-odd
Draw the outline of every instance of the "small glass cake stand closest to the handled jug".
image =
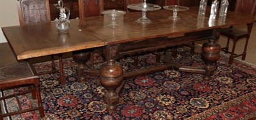
[[102, 11], [102, 14], [111, 16], [112, 22], [108, 24], [108, 27], [116, 28], [120, 27], [119, 24], [116, 24], [116, 16], [125, 15], [126, 12], [122, 10], [105, 10]]

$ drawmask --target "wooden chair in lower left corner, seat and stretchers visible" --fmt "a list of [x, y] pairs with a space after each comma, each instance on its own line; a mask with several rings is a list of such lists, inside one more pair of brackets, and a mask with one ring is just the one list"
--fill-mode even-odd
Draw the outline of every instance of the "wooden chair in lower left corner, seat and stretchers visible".
[[[0, 100], [5, 100], [8, 98], [15, 98], [18, 103], [18, 110], [13, 112], [2, 113], [0, 109], [0, 119], [3, 120], [3, 117], [13, 116], [15, 114], [22, 114], [25, 112], [31, 112], [38, 110], [40, 117], [45, 117], [44, 107], [42, 105], [42, 99], [40, 96], [39, 88], [39, 79], [36, 74], [33, 66], [29, 63], [17, 63], [8, 66], [3, 66], [0, 68], [0, 89], [10, 89], [10, 87], [19, 87], [24, 85], [33, 85], [29, 86], [29, 90], [25, 90], [19, 93], [11, 94], [8, 96], [1, 96]], [[37, 99], [37, 107], [31, 107], [28, 109], [22, 109], [20, 105], [19, 95], [22, 94], [32, 94], [33, 99]]]

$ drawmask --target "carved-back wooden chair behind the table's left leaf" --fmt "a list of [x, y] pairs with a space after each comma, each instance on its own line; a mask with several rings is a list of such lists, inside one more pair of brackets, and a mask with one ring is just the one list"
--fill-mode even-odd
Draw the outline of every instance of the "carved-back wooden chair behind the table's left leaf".
[[[38, 22], [50, 22], [51, 15], [49, 9], [49, 0], [18, 0], [17, 9], [19, 14], [20, 26], [27, 26], [29, 24], [35, 24]], [[31, 31], [33, 35], [33, 31]], [[60, 59], [60, 78], [61, 84], [65, 84], [65, 76], [63, 71], [62, 64], [62, 54], [56, 55]], [[54, 64], [54, 56], [51, 56], [52, 59], [52, 70], [39, 73], [52, 73], [58, 71]]]

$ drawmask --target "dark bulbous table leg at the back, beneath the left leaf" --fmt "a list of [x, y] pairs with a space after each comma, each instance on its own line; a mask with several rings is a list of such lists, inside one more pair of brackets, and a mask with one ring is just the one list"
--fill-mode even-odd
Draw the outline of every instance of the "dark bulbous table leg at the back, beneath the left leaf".
[[79, 50], [73, 52], [73, 59], [78, 64], [77, 74], [79, 77], [79, 82], [86, 82], [84, 69], [86, 68], [86, 62], [90, 59], [91, 50]]

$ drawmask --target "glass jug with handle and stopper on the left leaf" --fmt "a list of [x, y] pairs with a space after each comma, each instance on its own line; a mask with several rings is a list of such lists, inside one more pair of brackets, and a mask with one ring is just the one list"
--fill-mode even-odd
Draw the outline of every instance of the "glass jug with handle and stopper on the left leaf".
[[[60, 18], [56, 22], [58, 33], [60, 34], [68, 33], [70, 10], [67, 7], [63, 7], [62, 0], [58, 1], [57, 8], [60, 9]], [[67, 10], [67, 15], [66, 15], [66, 10]]]

